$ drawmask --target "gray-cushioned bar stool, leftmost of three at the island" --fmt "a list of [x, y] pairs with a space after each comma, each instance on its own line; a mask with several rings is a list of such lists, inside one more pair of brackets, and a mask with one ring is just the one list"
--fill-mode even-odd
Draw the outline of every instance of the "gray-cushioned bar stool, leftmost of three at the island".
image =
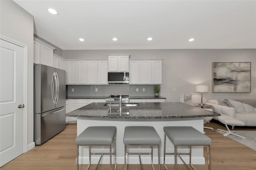
[[[112, 143], [114, 141], [114, 153], [112, 153]], [[115, 154], [115, 167], [116, 169], [116, 127], [88, 127], [76, 138], [77, 155], [76, 155], [76, 169], [79, 169], [79, 146], [89, 146], [89, 161], [87, 166], [89, 169], [91, 165], [91, 155], [101, 154], [100, 160], [104, 154], [110, 155], [110, 170], [112, 170], [112, 154]], [[109, 146], [109, 153], [92, 153], [91, 146]], [[100, 160], [97, 164], [96, 170], [100, 164]]]

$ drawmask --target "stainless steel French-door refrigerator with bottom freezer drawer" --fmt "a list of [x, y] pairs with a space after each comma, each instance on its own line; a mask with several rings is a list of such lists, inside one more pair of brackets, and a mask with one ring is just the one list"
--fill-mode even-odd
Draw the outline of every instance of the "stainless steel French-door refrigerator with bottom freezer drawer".
[[34, 64], [34, 142], [42, 144], [66, 128], [66, 71]]

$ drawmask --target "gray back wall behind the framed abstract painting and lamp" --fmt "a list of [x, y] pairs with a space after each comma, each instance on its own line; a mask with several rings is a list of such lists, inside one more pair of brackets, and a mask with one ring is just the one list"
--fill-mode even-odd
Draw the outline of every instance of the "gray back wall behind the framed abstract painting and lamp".
[[[256, 98], [256, 49], [134, 49], [134, 50], [63, 50], [66, 59], [106, 59], [106, 54], [131, 54], [131, 59], [161, 58], [163, 82], [161, 96], [168, 102], [180, 101], [182, 93], [192, 93], [194, 103], [199, 103], [197, 84], [209, 86], [204, 93], [208, 99], [255, 99]], [[252, 62], [251, 93], [211, 93], [212, 62]], [[172, 91], [176, 88], [176, 91]]]

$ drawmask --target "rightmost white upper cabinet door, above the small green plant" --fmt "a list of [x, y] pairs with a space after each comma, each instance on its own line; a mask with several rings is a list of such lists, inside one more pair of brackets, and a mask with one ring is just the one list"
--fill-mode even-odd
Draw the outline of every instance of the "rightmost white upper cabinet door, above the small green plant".
[[162, 60], [151, 61], [152, 84], [162, 84]]

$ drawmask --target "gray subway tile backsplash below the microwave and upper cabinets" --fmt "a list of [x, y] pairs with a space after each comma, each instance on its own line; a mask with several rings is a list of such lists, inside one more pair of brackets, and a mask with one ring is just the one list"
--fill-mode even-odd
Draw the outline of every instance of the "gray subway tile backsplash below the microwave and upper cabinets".
[[[74, 89], [73, 92], [72, 89]], [[110, 93], [112, 95], [154, 96], [154, 85], [66, 85], [67, 96], [109, 96]]]

